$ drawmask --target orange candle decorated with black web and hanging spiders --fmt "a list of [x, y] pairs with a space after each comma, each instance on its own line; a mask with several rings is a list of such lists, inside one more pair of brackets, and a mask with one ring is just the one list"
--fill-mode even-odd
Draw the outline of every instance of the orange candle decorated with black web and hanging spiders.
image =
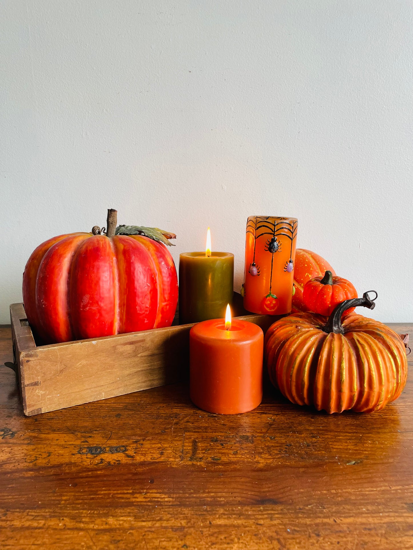
[[297, 226], [296, 218], [249, 216], [241, 290], [247, 311], [291, 312]]

